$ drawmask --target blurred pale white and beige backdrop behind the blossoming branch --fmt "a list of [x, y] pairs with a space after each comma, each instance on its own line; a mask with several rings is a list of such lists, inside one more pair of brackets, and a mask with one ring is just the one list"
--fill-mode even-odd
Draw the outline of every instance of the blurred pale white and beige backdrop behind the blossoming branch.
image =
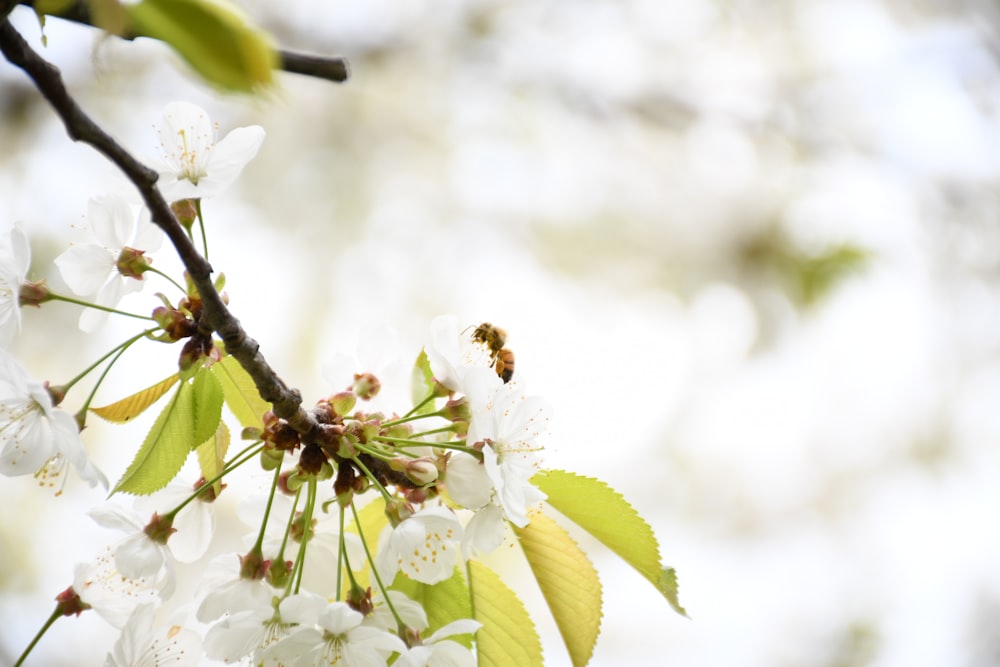
[[[50, 20], [42, 48], [30, 11], [12, 19], [140, 156], [177, 99], [223, 134], [266, 129], [205, 202], [211, 260], [307, 403], [370, 327], [406, 358], [441, 313], [507, 329], [555, 408], [546, 465], [634, 504], [691, 616], [581, 537], [606, 598], [593, 665], [1000, 664], [996, 3], [243, 5], [284, 48], [348, 57], [350, 82], [223, 96], [149, 40]], [[0, 222], [59, 287], [87, 200], [127, 184], [3, 65]], [[84, 337], [77, 316], [25, 313], [36, 378], [132, 331]], [[144, 349], [97, 403], [170, 372], [176, 350]], [[88, 429], [109, 478], [133, 426]], [[53, 502], [4, 479], [0, 500], [2, 663], [115, 536], [81, 518], [102, 494], [78, 481]], [[521, 583], [546, 664], [569, 665]], [[99, 664], [115, 637], [87, 615], [50, 635], [35, 664]]]

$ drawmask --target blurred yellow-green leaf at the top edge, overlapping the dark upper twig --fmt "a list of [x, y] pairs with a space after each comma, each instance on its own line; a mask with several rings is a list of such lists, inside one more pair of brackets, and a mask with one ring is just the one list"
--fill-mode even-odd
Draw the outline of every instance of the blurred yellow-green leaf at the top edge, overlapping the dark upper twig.
[[253, 92], [271, 83], [277, 55], [267, 36], [218, 0], [142, 0], [126, 4], [140, 35], [169, 44], [203, 78]]

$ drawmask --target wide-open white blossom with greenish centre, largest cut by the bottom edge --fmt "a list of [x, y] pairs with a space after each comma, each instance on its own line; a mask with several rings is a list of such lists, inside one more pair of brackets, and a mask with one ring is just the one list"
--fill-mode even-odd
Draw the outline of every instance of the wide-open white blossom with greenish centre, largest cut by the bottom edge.
[[294, 667], [384, 667], [406, 644], [395, 634], [367, 625], [346, 602], [327, 602], [313, 594], [285, 598], [279, 607], [284, 620], [298, 623], [274, 646], [270, 657]]

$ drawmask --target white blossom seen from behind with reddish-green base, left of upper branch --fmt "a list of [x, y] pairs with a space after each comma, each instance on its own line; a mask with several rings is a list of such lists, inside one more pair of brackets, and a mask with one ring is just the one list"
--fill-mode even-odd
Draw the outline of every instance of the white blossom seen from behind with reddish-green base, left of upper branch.
[[[56, 266], [75, 294], [114, 308], [126, 294], [143, 288], [143, 266], [149, 262], [145, 253], [159, 249], [163, 232], [150, 222], [145, 208], [115, 195], [91, 199], [87, 218], [96, 242], [69, 247], [56, 257]], [[94, 331], [107, 315], [87, 308], [80, 315], [80, 328]]]

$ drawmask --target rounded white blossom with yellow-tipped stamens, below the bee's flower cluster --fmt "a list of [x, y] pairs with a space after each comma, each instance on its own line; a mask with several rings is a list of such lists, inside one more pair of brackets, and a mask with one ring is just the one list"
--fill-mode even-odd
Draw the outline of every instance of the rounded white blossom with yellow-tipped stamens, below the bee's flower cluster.
[[446, 507], [425, 507], [392, 528], [379, 539], [375, 563], [384, 581], [392, 581], [399, 570], [410, 579], [436, 584], [455, 570], [462, 524]]

